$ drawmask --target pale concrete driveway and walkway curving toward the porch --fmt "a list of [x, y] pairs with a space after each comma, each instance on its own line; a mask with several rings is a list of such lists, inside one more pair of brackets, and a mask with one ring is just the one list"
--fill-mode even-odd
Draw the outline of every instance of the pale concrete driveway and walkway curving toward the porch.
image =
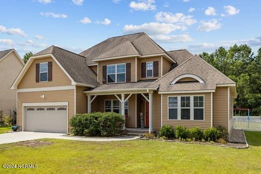
[[139, 137], [136, 136], [121, 136], [115, 138], [86, 138], [86, 137], [70, 137], [60, 133], [45, 133], [45, 132], [10, 132], [0, 134], [0, 144], [16, 143], [19, 141], [37, 140], [42, 138], [55, 138], [65, 140], [79, 140], [79, 141], [126, 141], [134, 140]]

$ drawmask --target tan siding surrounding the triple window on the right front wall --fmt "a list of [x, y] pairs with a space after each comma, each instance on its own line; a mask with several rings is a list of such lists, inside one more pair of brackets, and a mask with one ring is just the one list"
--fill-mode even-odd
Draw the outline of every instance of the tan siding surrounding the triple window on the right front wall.
[[[178, 95], [204, 95], [205, 105], [204, 105], [204, 120], [168, 120], [168, 96], [178, 96]], [[172, 127], [181, 125], [186, 128], [199, 127], [201, 129], [206, 129], [211, 127], [211, 93], [183, 93], [183, 94], [163, 94], [163, 125], [171, 125]]]

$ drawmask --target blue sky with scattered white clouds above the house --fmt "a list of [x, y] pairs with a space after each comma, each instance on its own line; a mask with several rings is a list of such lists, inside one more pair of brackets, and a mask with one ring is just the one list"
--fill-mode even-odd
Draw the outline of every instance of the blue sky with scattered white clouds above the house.
[[261, 47], [261, 0], [1, 0], [0, 50], [50, 45], [80, 53], [108, 37], [144, 31], [166, 50]]

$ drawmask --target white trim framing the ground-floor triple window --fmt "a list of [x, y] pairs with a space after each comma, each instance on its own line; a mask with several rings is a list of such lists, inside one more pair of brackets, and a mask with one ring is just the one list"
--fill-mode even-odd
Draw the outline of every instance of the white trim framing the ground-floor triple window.
[[[181, 96], [190, 96], [190, 119], [184, 120], [181, 119]], [[203, 96], [203, 120], [194, 120], [194, 96]], [[169, 97], [177, 97], [177, 119], [169, 119]], [[191, 105], [192, 103], [192, 105]], [[168, 95], [168, 120], [169, 121], [205, 121], [205, 95]], [[198, 108], [198, 107], [196, 107]]]

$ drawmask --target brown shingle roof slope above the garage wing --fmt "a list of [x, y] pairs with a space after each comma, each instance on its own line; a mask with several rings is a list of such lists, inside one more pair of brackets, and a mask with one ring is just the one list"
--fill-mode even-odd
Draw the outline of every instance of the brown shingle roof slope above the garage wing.
[[36, 53], [34, 56], [43, 54], [53, 54], [76, 83], [83, 83], [94, 87], [98, 85], [97, 76], [87, 66], [86, 58], [84, 56], [80, 56], [56, 46], [46, 48], [45, 50]]

